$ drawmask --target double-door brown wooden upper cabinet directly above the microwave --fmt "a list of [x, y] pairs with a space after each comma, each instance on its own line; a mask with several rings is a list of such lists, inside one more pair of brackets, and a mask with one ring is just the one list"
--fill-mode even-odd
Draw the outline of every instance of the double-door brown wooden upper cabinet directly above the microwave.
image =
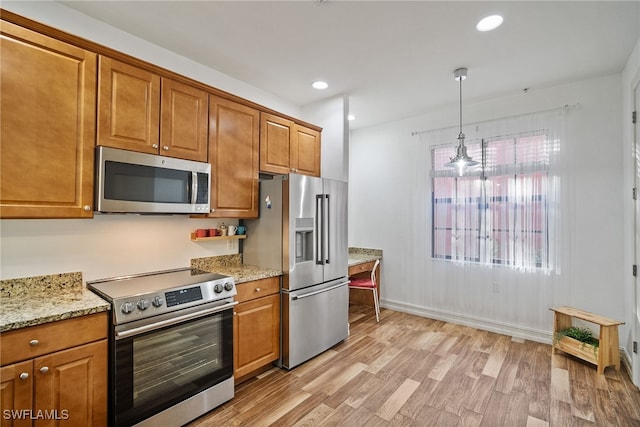
[[207, 92], [100, 56], [98, 145], [207, 161]]

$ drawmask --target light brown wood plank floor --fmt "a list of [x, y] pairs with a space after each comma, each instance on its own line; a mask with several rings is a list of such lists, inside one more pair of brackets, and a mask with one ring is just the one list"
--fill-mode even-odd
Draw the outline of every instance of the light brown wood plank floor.
[[640, 426], [625, 371], [551, 346], [350, 306], [351, 334], [315, 359], [273, 368], [190, 423], [213, 426]]

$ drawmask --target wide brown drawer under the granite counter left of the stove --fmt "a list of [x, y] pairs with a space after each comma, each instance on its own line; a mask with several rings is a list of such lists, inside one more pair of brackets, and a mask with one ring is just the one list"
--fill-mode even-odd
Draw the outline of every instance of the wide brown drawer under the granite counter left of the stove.
[[107, 338], [107, 312], [5, 332], [0, 336], [2, 365]]

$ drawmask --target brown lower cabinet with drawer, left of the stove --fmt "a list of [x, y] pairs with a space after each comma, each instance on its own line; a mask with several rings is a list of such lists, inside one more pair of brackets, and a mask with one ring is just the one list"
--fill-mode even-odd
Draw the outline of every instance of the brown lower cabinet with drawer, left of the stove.
[[107, 314], [0, 336], [0, 425], [106, 426]]

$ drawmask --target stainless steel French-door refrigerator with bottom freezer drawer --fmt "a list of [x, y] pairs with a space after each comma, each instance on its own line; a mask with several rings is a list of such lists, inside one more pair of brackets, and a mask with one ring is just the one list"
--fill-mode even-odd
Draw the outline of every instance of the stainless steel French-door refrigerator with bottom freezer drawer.
[[305, 175], [260, 182], [245, 222], [245, 264], [282, 269], [281, 366], [291, 369], [349, 333], [347, 183]]

